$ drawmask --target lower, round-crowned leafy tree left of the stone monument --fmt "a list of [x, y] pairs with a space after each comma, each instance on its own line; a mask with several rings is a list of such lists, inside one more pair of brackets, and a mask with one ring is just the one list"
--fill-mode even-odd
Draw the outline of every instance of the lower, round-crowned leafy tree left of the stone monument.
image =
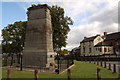
[[11, 56], [11, 65], [13, 61], [13, 55], [21, 53], [23, 50], [26, 23], [27, 22], [21, 21], [15, 22], [14, 24], [10, 24], [2, 30], [2, 53], [7, 53]]

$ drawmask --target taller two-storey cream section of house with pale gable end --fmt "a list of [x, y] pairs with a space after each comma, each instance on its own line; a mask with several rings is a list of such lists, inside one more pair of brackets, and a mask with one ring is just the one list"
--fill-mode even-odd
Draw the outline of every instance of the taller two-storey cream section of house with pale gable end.
[[96, 54], [95, 45], [102, 42], [103, 38], [100, 35], [96, 35], [93, 37], [84, 37], [84, 39], [80, 42], [80, 50], [82, 56], [90, 56]]

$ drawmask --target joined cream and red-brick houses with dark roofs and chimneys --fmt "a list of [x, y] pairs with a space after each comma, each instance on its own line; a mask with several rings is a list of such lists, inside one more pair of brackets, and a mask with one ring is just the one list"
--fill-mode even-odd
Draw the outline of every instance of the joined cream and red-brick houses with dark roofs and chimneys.
[[120, 53], [120, 32], [92, 37], [84, 37], [80, 42], [81, 56], [119, 54]]

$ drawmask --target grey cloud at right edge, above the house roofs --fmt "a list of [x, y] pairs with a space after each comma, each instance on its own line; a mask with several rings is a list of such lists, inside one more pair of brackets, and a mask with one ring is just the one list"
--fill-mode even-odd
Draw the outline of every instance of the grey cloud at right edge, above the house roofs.
[[113, 9], [107, 9], [105, 11], [96, 13], [89, 19], [89, 22], [94, 21], [102, 22], [103, 26], [112, 23], [118, 23], [118, 7], [115, 6]]

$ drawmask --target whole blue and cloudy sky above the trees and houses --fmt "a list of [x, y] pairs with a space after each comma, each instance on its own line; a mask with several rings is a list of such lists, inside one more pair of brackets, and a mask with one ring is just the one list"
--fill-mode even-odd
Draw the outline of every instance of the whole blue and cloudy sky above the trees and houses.
[[[73, 25], [68, 33], [67, 46], [71, 50], [80, 45], [86, 37], [103, 32], [118, 31], [118, 2], [119, 0], [3, 0], [0, 3], [1, 30], [8, 24], [27, 20], [27, 8], [31, 4], [58, 5], [65, 10], [65, 16], [71, 17]], [[0, 40], [2, 37], [0, 36]]]

